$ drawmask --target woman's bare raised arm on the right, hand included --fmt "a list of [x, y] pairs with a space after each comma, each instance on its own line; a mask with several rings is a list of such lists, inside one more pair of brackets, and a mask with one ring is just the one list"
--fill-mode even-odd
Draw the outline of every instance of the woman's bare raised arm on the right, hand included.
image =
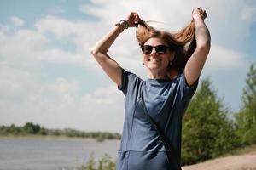
[[192, 18], [195, 21], [196, 48], [184, 68], [184, 74], [188, 85], [193, 85], [201, 74], [201, 70], [207, 59], [211, 48], [211, 36], [204, 22], [207, 14], [201, 8], [192, 11]]

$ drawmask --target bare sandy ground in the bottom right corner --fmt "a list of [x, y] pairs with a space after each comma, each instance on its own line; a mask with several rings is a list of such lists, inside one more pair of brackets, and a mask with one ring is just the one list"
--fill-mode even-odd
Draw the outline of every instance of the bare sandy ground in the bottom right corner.
[[228, 156], [182, 167], [183, 170], [256, 170], [256, 153]]

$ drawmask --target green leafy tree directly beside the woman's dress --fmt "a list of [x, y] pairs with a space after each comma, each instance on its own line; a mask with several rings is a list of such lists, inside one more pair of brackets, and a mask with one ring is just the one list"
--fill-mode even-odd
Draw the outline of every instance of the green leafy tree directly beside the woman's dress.
[[211, 87], [210, 78], [191, 100], [183, 118], [183, 164], [205, 161], [234, 148], [237, 143], [233, 123], [222, 99]]

